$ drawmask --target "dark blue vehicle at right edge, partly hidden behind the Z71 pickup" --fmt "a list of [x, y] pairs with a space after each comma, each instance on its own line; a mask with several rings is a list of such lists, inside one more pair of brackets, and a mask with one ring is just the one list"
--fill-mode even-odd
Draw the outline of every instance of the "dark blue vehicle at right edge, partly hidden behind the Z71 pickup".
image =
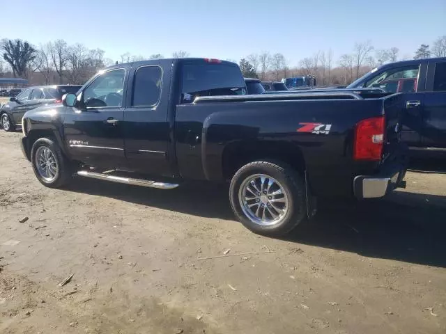
[[446, 58], [385, 64], [347, 86], [358, 87], [401, 92], [402, 141], [414, 152], [446, 153]]

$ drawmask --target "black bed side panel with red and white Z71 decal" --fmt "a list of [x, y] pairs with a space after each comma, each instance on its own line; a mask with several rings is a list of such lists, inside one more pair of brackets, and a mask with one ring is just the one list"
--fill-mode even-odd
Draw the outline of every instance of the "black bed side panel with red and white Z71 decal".
[[[377, 163], [353, 161], [355, 124], [382, 113], [383, 100], [180, 105], [176, 111], [178, 167], [185, 178], [219, 181], [224, 179], [222, 157], [229, 145], [240, 141], [257, 145], [265, 141], [282, 142], [302, 153], [316, 194], [330, 195], [332, 190], [350, 193], [353, 175], [371, 173], [377, 166]], [[302, 123], [330, 125], [329, 132], [302, 132], [305, 126]], [[201, 142], [191, 145], [190, 138], [194, 136], [200, 136]]]

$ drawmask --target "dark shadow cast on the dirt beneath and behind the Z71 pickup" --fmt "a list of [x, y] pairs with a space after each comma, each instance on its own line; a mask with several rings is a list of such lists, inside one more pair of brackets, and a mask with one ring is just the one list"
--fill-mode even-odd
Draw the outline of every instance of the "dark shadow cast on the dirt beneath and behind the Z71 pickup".
[[[78, 178], [68, 191], [106, 196], [194, 216], [234, 219], [227, 186], [190, 184], [171, 191]], [[446, 198], [394, 192], [385, 200], [319, 201], [318, 214], [287, 241], [369, 257], [446, 267]]]

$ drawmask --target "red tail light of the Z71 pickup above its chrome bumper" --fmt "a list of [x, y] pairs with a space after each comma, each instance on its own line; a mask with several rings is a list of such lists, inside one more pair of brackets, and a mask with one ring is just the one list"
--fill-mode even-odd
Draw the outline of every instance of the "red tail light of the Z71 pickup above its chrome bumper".
[[377, 161], [383, 154], [384, 116], [367, 118], [357, 123], [355, 128], [355, 143], [353, 159]]

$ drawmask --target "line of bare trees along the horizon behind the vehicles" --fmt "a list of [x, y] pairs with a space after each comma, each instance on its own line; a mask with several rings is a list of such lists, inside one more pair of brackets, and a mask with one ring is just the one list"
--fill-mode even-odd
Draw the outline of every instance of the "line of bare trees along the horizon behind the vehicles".
[[[162, 54], [137, 56], [129, 52], [118, 60], [105, 58], [102, 49], [89, 49], [81, 43], [68, 45], [65, 40], [55, 40], [38, 46], [24, 40], [0, 41], [0, 77], [23, 77], [33, 84], [83, 84], [102, 67], [114, 63], [128, 63], [146, 59], [164, 58]], [[173, 58], [185, 58], [187, 51], [175, 51]], [[421, 45], [414, 58], [446, 56], [446, 35], [437, 38], [432, 47]], [[369, 40], [357, 42], [353, 51], [342, 54], [336, 60], [332, 49], [317, 51], [302, 58], [297, 66], [291, 66], [281, 53], [249, 54], [240, 60], [240, 69], [245, 77], [262, 80], [280, 80], [284, 77], [314, 75], [318, 86], [346, 85], [374, 67], [387, 62], [402, 60], [399, 49], [376, 49]]]

